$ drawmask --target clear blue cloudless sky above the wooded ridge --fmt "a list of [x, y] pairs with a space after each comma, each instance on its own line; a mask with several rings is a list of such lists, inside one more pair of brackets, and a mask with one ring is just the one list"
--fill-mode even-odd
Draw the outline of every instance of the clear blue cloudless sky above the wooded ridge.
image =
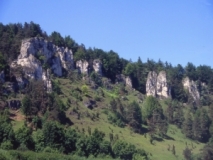
[[30, 21], [127, 60], [213, 67], [213, 0], [0, 0], [0, 22]]

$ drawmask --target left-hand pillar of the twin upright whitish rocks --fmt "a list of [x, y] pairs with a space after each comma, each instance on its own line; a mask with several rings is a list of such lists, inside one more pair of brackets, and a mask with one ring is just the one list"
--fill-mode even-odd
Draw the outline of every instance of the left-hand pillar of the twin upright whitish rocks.
[[146, 95], [156, 97], [157, 73], [151, 71], [148, 74], [146, 81]]

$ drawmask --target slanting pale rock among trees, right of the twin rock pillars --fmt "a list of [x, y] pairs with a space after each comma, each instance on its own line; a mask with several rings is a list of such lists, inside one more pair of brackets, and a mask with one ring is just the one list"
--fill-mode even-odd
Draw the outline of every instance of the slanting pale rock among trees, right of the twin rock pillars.
[[182, 81], [183, 86], [187, 91], [189, 92], [190, 96], [194, 99], [194, 101], [200, 100], [200, 93], [198, 92], [196, 83], [189, 79], [189, 77], [186, 77]]

